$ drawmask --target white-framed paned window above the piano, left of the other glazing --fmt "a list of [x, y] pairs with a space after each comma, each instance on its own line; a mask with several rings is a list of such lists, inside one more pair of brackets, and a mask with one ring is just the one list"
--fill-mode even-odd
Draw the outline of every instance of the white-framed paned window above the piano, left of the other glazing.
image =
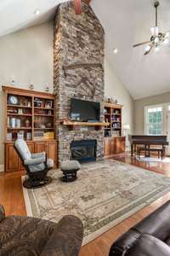
[[147, 135], [161, 135], [163, 133], [163, 108], [145, 108], [145, 132]]

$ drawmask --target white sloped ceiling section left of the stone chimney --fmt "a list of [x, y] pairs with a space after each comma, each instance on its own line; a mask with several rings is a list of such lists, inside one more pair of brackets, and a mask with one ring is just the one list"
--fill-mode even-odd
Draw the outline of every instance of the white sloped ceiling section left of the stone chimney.
[[[0, 0], [0, 37], [50, 20], [59, 3], [65, 0]], [[35, 15], [35, 10], [40, 15]]]

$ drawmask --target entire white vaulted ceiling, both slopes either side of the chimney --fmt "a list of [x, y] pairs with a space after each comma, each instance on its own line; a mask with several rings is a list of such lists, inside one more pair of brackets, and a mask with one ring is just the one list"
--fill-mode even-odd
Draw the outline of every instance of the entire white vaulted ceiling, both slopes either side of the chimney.
[[[53, 17], [64, 0], [1, 0], [0, 36]], [[134, 99], [170, 91], [170, 46], [144, 56], [144, 46], [155, 24], [154, 0], [92, 0], [91, 6], [105, 28], [105, 54], [117, 77]], [[159, 26], [170, 30], [170, 0], [160, 0]], [[39, 16], [34, 15], [40, 9]], [[118, 48], [118, 54], [113, 49]]]

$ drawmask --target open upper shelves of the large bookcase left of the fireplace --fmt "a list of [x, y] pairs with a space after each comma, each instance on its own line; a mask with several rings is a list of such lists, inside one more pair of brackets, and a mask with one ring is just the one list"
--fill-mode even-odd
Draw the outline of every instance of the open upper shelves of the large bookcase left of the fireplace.
[[6, 102], [5, 140], [54, 139], [54, 95], [3, 86]]

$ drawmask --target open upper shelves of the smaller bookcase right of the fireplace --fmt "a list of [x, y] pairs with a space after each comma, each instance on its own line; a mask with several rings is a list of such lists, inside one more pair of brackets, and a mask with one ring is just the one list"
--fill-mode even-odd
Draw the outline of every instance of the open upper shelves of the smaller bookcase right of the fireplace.
[[104, 105], [105, 137], [121, 137], [122, 136], [122, 105], [105, 103]]

